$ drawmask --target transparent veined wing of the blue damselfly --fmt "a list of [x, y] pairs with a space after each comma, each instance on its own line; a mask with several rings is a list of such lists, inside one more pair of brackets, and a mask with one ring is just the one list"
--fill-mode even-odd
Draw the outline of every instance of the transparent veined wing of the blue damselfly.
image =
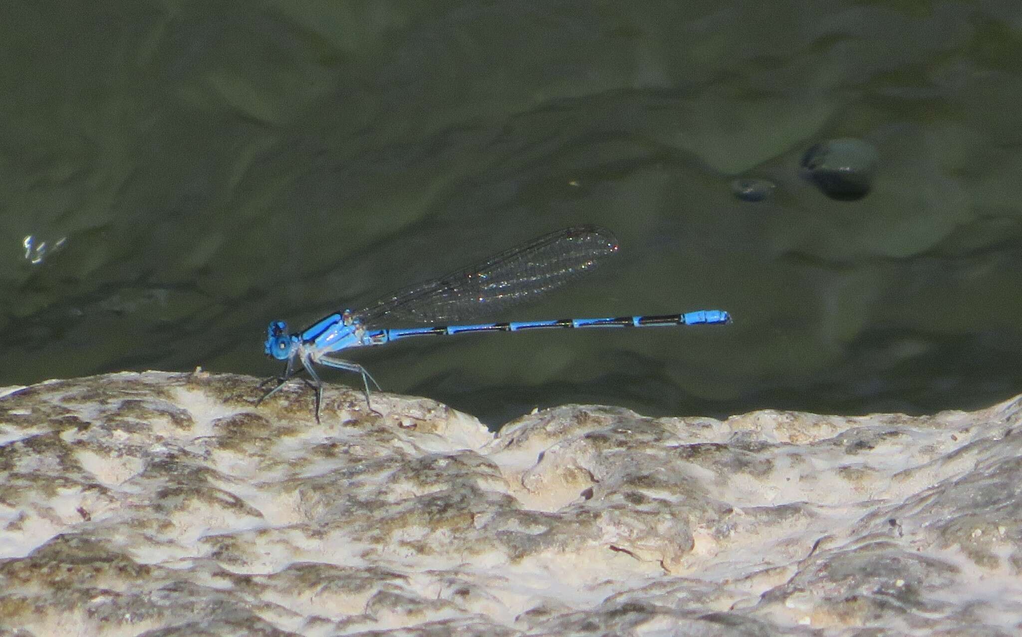
[[605, 228], [573, 226], [381, 299], [356, 312], [366, 325], [448, 323], [479, 318], [536, 299], [589, 272], [617, 252]]

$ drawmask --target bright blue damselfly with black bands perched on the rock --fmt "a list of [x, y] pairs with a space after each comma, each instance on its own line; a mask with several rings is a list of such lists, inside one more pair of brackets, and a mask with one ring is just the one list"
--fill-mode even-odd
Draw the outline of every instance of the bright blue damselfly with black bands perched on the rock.
[[[380, 346], [413, 336], [449, 336], [471, 332], [523, 331], [529, 329], [592, 329], [609, 327], [654, 327], [677, 325], [723, 325], [731, 315], [723, 310], [698, 310], [684, 314], [568, 318], [503, 323], [462, 323], [509, 307], [530, 302], [541, 294], [597, 268], [618, 252], [617, 239], [598, 226], [574, 226], [551, 232], [505, 251], [485, 261], [455, 270], [445, 276], [407, 287], [363, 310], [330, 314], [309, 327], [288, 333], [283, 321], [267, 328], [265, 352], [286, 361], [284, 372], [260, 386], [277, 384], [257, 402], [263, 402], [303, 371], [306, 383], [316, 392], [319, 421], [323, 382], [315, 365], [324, 365], [362, 376], [366, 404], [370, 382], [379, 384], [357, 363], [335, 358], [342, 350]], [[407, 321], [418, 327], [382, 327]], [[437, 324], [439, 323], [439, 324]]]

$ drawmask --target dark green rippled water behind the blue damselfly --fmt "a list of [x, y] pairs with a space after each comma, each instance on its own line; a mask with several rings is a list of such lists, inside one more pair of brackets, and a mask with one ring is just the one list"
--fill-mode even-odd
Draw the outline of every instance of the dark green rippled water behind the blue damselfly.
[[[1022, 388], [1019, 3], [0, 12], [0, 384], [269, 375], [270, 319], [598, 223], [616, 268], [499, 318], [721, 308], [735, 324], [353, 358], [491, 423], [572, 401], [927, 412]], [[857, 200], [799, 174], [839, 137], [879, 157]], [[743, 201], [739, 177], [776, 188]]]

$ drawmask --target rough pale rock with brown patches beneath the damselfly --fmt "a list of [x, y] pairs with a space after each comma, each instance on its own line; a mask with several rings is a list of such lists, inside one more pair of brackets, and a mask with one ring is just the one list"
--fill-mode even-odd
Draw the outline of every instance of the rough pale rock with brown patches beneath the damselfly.
[[122, 373], [0, 399], [0, 635], [1014, 635], [1022, 399], [726, 421]]

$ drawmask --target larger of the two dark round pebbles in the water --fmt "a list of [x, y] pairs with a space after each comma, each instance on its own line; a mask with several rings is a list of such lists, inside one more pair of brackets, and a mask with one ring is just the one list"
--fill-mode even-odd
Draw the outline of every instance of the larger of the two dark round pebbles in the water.
[[879, 154], [873, 144], [861, 139], [828, 139], [802, 154], [803, 176], [832, 199], [853, 201], [865, 197], [873, 186]]

